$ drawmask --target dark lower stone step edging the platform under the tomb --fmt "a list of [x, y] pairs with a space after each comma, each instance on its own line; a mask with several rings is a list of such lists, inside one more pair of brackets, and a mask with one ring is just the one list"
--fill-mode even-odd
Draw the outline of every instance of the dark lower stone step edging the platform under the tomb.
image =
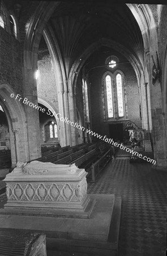
[[57, 240], [54, 238], [48, 238], [46, 239], [47, 256], [59, 255], [58, 253], [60, 252], [61, 255], [67, 255], [67, 251], [69, 253], [74, 253], [74, 255], [76, 253], [80, 256], [117, 256], [120, 220], [121, 197], [115, 197], [108, 241]]

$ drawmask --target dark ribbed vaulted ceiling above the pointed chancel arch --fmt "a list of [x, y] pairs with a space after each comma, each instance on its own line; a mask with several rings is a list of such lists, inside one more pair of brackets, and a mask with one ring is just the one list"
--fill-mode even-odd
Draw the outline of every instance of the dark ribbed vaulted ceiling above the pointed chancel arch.
[[143, 58], [143, 39], [138, 23], [126, 4], [61, 2], [47, 25], [65, 60], [68, 72], [92, 43], [111, 39]]

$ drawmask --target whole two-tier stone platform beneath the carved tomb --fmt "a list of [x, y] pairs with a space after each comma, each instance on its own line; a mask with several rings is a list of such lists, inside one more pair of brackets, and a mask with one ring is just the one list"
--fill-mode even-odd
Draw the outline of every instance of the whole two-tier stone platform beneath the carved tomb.
[[0, 214], [0, 230], [46, 234], [47, 255], [57, 251], [88, 256], [118, 255], [121, 197], [91, 194], [95, 209], [88, 219]]

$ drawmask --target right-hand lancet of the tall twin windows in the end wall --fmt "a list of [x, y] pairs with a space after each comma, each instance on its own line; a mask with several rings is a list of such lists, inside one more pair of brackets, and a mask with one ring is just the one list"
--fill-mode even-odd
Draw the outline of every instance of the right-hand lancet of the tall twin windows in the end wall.
[[116, 84], [117, 84], [117, 100], [118, 100], [118, 116], [123, 117], [123, 92], [122, 92], [122, 76], [118, 74], [116, 76]]

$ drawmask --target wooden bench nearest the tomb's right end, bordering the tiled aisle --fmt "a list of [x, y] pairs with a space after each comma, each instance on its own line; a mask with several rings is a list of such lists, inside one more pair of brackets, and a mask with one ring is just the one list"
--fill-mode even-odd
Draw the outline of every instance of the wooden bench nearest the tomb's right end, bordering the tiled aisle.
[[108, 150], [103, 156], [101, 156], [99, 160], [97, 160], [95, 163], [92, 163], [92, 181], [95, 181], [95, 175], [99, 174], [99, 172], [106, 166], [110, 159], [112, 159], [112, 150]]

